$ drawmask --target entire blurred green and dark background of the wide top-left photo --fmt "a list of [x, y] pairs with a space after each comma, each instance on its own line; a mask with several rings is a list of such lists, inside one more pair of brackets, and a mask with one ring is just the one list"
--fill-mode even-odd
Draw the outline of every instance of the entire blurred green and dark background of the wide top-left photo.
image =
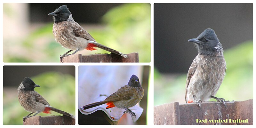
[[[59, 62], [69, 51], [52, 34], [48, 13], [62, 3], [4, 3], [4, 62]], [[74, 20], [95, 40], [128, 54], [139, 52], [140, 62], [150, 62], [150, 4], [147, 3], [67, 3]], [[82, 55], [109, 53], [82, 50]], [[76, 53], [77, 54], [77, 53]]]

